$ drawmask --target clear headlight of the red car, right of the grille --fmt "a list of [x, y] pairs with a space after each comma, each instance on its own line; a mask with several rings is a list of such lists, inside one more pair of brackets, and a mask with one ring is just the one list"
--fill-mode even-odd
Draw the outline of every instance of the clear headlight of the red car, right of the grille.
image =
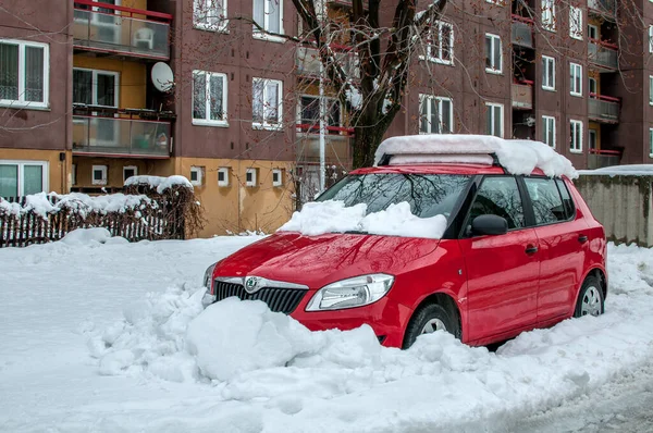
[[337, 281], [320, 288], [306, 311], [341, 310], [367, 306], [381, 299], [392, 287], [394, 276], [370, 274]]

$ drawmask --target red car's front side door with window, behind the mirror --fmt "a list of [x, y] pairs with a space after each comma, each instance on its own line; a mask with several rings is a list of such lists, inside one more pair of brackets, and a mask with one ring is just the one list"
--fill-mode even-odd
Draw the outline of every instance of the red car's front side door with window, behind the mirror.
[[481, 214], [505, 218], [508, 232], [459, 239], [468, 287], [466, 341], [479, 344], [516, 335], [537, 323], [540, 273], [538, 237], [526, 226], [514, 176], [485, 176], [466, 225]]

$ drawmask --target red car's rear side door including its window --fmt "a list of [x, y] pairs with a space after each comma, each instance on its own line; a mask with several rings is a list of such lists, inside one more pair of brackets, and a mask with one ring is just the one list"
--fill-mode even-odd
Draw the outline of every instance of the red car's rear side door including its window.
[[576, 219], [574, 200], [562, 180], [525, 177], [532, 203], [535, 234], [540, 242], [540, 294], [538, 321], [570, 316], [582, 277], [588, 248], [588, 226]]

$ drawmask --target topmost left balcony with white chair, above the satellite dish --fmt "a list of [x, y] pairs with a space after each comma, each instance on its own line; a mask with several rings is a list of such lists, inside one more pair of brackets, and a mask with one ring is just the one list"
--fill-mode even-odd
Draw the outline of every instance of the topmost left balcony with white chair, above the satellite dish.
[[[102, 4], [101, 8], [98, 4]], [[73, 47], [120, 55], [170, 60], [172, 15], [75, 0]]]

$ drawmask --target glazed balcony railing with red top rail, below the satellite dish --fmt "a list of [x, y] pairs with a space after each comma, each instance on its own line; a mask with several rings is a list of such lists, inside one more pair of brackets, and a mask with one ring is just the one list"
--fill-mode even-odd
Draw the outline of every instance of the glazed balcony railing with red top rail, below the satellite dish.
[[168, 158], [170, 122], [73, 116], [73, 152]]

